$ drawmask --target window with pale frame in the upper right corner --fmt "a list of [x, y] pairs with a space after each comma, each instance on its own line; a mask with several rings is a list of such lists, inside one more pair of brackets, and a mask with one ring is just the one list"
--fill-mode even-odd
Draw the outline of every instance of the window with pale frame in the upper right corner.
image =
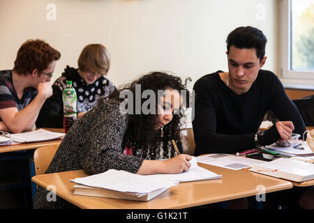
[[314, 79], [314, 0], [281, 0], [281, 76]]

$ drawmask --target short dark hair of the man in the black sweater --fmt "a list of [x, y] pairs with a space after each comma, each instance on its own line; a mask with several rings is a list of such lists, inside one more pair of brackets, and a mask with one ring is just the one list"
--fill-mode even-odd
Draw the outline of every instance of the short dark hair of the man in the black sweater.
[[267, 38], [260, 29], [256, 29], [252, 26], [241, 26], [234, 29], [229, 33], [227, 40], [227, 54], [230, 52], [230, 47], [234, 45], [239, 49], [256, 49], [257, 58], [262, 61], [265, 55], [265, 47], [267, 43]]

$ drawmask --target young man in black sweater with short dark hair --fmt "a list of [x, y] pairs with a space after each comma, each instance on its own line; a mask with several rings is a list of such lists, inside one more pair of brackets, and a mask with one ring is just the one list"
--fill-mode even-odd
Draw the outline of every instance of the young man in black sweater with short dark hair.
[[[227, 37], [228, 72], [218, 70], [197, 80], [193, 132], [195, 155], [236, 153], [303, 134], [304, 121], [266, 62], [267, 38], [251, 26], [234, 29]], [[258, 133], [264, 114], [279, 121]]]

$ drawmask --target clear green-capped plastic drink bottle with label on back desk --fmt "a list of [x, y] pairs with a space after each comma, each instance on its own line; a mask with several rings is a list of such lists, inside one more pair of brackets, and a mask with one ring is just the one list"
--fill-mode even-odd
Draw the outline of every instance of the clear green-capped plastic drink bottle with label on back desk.
[[68, 132], [76, 121], [77, 95], [71, 81], [66, 81], [66, 88], [62, 93], [63, 100], [63, 131]]

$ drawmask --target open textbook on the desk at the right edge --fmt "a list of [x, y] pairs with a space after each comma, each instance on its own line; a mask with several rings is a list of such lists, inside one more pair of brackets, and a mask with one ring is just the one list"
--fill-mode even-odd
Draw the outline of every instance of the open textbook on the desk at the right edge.
[[311, 160], [297, 157], [279, 158], [271, 162], [255, 164], [250, 171], [295, 182], [304, 182], [314, 179], [314, 164], [308, 161]]

